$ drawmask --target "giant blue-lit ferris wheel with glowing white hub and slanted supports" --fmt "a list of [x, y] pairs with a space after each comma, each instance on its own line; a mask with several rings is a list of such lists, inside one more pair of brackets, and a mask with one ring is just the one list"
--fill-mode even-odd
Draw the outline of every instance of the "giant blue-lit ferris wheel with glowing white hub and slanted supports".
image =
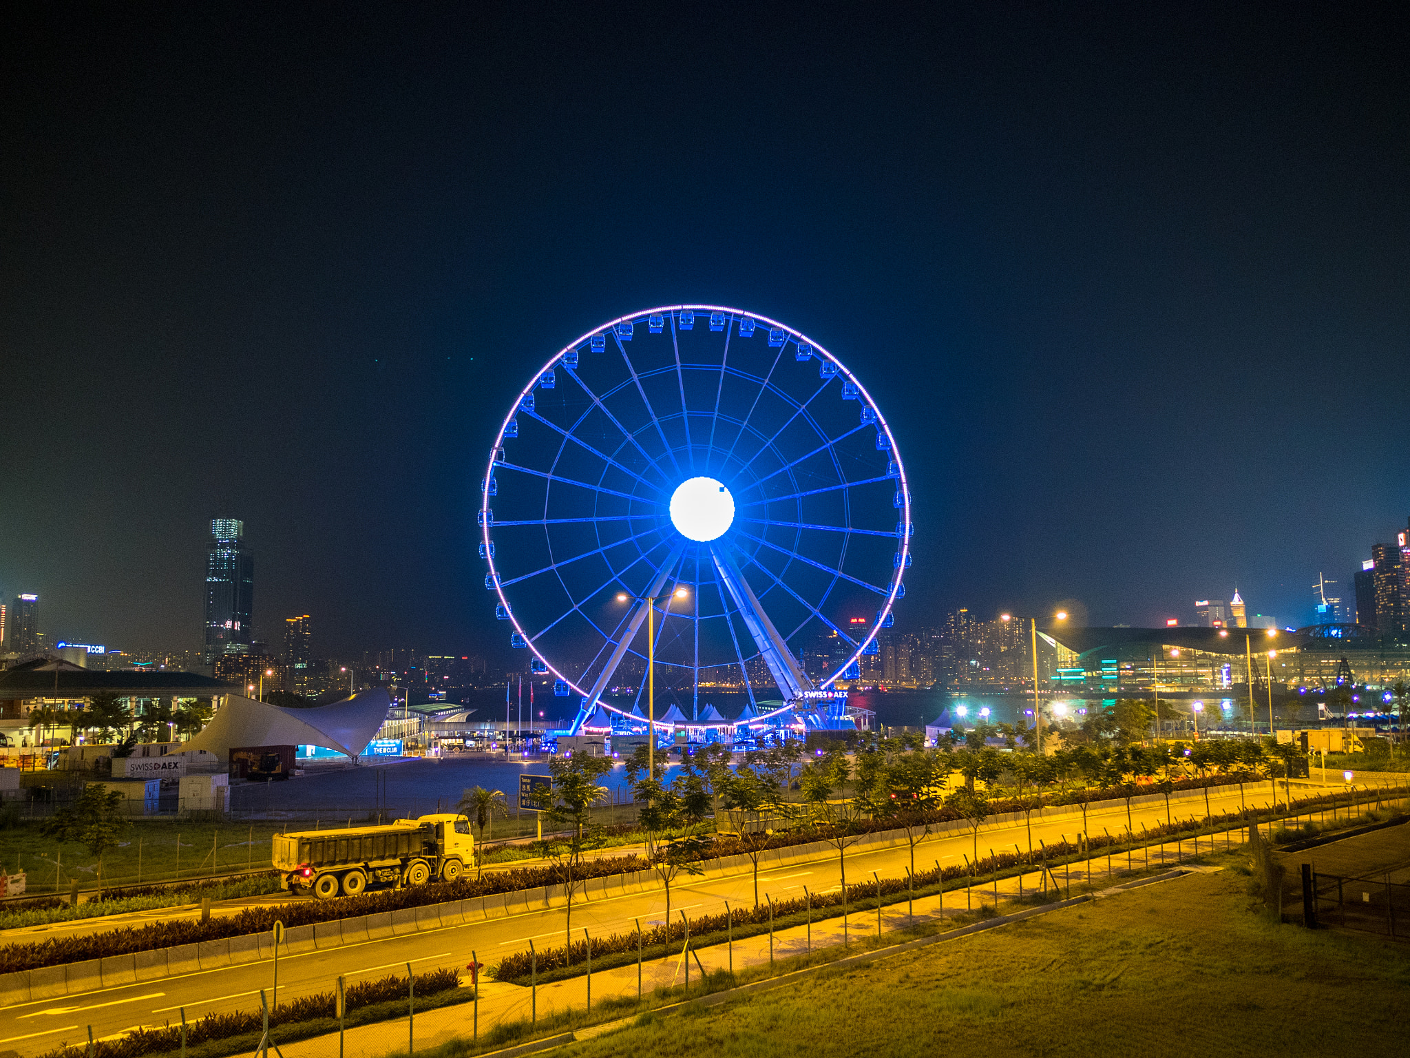
[[757, 313], [664, 306], [568, 343], [515, 399], [481, 490], [496, 616], [580, 719], [630, 715], [647, 629], [657, 697], [785, 712], [857, 679], [905, 594], [911, 497], [885, 416]]

